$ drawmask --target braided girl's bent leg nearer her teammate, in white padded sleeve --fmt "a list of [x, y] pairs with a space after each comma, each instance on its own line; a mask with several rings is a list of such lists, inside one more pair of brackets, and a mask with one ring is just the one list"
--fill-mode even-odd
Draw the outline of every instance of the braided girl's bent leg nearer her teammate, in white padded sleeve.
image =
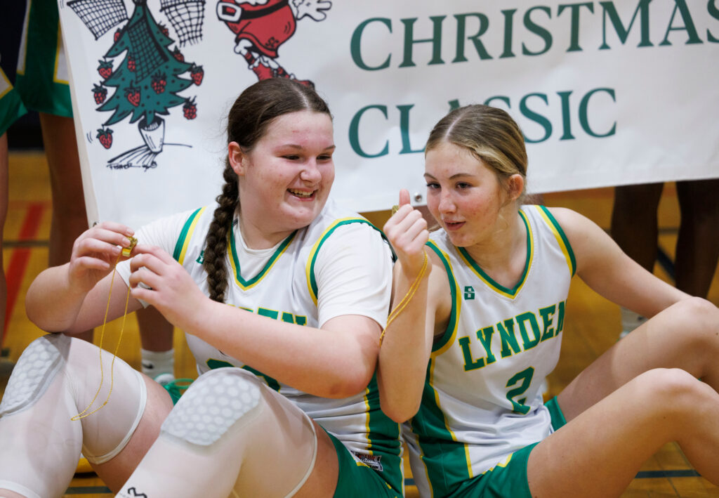
[[118, 497], [289, 497], [314, 468], [310, 418], [240, 368], [204, 373]]

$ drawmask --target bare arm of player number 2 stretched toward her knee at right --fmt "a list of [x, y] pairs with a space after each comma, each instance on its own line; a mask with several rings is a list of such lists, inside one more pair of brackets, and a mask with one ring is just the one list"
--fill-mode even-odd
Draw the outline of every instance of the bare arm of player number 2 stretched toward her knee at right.
[[642, 268], [590, 219], [570, 209], [551, 208], [577, 260], [577, 275], [615, 304], [645, 317], [690, 297]]

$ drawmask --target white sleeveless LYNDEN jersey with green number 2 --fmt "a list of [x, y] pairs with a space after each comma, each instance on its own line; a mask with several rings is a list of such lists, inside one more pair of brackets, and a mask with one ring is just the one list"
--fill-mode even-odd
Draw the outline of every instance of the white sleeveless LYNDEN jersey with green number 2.
[[549, 210], [523, 206], [519, 215], [527, 257], [512, 289], [493, 281], [444, 230], [428, 243], [449, 276], [452, 315], [432, 348], [421, 409], [406, 430], [424, 497], [444, 496], [551, 433], [539, 388], [559, 359], [576, 265]]

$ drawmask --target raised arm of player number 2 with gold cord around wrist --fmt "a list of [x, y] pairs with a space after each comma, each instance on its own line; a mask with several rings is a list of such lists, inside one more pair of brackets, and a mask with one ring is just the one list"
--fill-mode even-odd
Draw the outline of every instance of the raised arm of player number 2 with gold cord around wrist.
[[[393, 275], [392, 309], [398, 309], [412, 286], [416, 290], [385, 330], [377, 367], [377, 386], [383, 412], [395, 422], [416, 414], [421, 403], [424, 377], [434, 336], [434, 299], [428, 299], [434, 254], [428, 255], [426, 221], [409, 204], [409, 193], [400, 191], [400, 207], [384, 226], [398, 261]], [[422, 274], [424, 259], [426, 268]], [[390, 316], [393, 316], [390, 314]]]

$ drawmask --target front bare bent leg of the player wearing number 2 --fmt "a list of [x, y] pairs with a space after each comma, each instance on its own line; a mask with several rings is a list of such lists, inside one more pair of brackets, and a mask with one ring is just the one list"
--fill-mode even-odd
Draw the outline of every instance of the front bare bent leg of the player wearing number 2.
[[669, 441], [679, 443], [705, 479], [719, 484], [718, 410], [719, 394], [690, 373], [642, 373], [533, 448], [527, 464], [531, 494], [575, 497], [581, 489], [582, 497], [619, 497]]

